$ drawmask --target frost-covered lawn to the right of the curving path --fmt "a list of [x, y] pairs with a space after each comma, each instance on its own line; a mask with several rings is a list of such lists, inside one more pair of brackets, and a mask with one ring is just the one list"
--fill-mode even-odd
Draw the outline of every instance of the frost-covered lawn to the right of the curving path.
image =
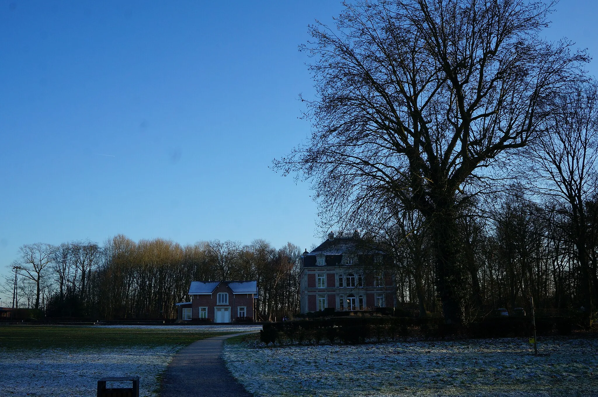
[[260, 347], [225, 344], [255, 396], [596, 396], [598, 341], [519, 339]]

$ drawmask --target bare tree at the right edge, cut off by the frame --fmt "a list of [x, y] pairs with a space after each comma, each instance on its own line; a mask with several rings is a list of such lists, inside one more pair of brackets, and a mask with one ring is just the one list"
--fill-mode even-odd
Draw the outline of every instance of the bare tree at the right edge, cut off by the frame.
[[598, 86], [588, 84], [575, 93], [557, 97], [557, 112], [545, 123], [545, 134], [530, 146], [533, 183], [562, 203], [569, 218], [581, 270], [581, 301], [590, 324], [594, 312], [588, 213], [586, 203], [596, 195], [598, 161]]

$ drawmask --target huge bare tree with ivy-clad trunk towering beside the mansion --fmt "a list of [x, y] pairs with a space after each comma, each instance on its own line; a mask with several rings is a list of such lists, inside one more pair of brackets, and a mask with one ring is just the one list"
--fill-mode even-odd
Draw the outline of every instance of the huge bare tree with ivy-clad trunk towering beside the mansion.
[[540, 38], [550, 11], [523, 0], [358, 1], [337, 29], [311, 27], [313, 133], [274, 165], [312, 180], [324, 213], [377, 196], [420, 211], [447, 322], [463, 315], [460, 201], [535, 136], [587, 61]]

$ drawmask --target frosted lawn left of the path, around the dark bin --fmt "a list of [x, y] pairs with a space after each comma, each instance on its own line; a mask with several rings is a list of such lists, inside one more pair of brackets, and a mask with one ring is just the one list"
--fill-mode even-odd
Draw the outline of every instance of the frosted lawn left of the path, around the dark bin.
[[[94, 396], [106, 376], [139, 376], [139, 396], [157, 396], [158, 375], [180, 346], [0, 350], [2, 396]], [[129, 386], [126, 386], [126, 385]], [[130, 382], [121, 386], [130, 387]]]

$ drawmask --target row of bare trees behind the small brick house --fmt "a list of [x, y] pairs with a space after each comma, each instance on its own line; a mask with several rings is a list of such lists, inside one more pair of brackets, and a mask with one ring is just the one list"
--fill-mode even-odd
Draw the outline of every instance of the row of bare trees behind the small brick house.
[[23, 245], [5, 293], [50, 316], [101, 319], [176, 316], [191, 281], [257, 280], [261, 318], [297, 312], [301, 250], [264, 240], [249, 245], [218, 240], [182, 247], [164, 239], [132, 241], [123, 235], [98, 244]]

